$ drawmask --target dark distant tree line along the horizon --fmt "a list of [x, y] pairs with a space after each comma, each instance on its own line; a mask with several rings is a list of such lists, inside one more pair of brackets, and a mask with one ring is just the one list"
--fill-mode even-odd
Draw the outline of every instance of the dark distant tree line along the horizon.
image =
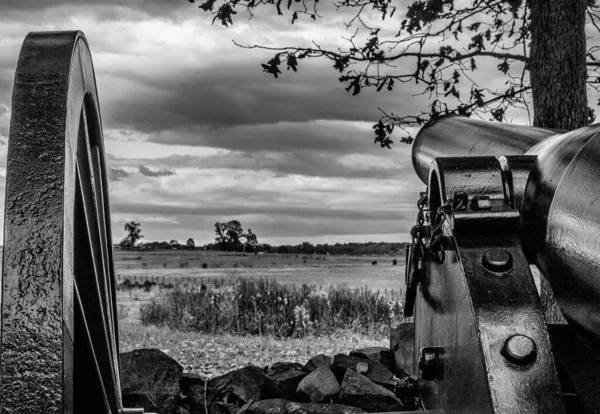
[[308, 241], [300, 244], [270, 245], [259, 243], [256, 233], [248, 229], [244, 231], [238, 220], [216, 222], [215, 242], [196, 246], [194, 239], [189, 238], [185, 244], [177, 240], [139, 243], [144, 237], [140, 223], [131, 221], [125, 224], [127, 235], [118, 244], [122, 249], [165, 250], [165, 249], [200, 249], [209, 251], [229, 251], [241, 253], [277, 253], [277, 254], [318, 254], [318, 255], [392, 255], [402, 253], [407, 243], [366, 242], [312, 244]]

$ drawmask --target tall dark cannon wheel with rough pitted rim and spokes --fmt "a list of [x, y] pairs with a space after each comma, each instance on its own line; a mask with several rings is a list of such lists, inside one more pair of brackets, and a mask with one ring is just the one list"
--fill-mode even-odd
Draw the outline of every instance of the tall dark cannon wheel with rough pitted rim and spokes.
[[123, 412], [101, 125], [83, 33], [28, 34], [6, 171], [2, 412]]

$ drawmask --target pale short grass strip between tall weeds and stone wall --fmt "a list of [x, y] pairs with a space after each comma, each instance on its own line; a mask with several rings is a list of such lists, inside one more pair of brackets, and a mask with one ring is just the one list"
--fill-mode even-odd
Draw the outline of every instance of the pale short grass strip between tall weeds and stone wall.
[[369, 346], [387, 347], [389, 340], [348, 331], [337, 331], [329, 337], [288, 339], [209, 335], [122, 320], [119, 321], [119, 345], [121, 352], [160, 349], [179, 362], [184, 371], [212, 378], [247, 365], [264, 367], [283, 361], [304, 364], [318, 354], [333, 356]]

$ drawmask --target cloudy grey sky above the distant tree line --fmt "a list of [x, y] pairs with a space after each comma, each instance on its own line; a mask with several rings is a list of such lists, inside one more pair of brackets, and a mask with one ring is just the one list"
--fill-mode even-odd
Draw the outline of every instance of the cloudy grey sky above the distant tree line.
[[261, 72], [269, 53], [232, 43], [346, 45], [346, 16], [325, 13], [318, 26], [289, 17], [225, 28], [186, 0], [1, 0], [0, 211], [21, 43], [30, 31], [80, 29], [99, 89], [115, 241], [136, 220], [145, 240], [205, 244], [231, 219], [271, 244], [407, 240], [423, 186], [410, 148], [381, 149], [371, 127], [377, 107], [417, 107], [416, 90], [352, 97], [328, 61], [276, 80]]

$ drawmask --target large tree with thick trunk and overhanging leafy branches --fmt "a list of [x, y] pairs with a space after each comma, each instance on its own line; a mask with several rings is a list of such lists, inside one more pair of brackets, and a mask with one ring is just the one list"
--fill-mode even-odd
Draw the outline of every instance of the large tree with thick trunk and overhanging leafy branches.
[[[395, 128], [405, 131], [401, 142], [411, 143], [410, 127], [448, 113], [506, 121], [511, 108], [517, 108], [527, 111], [530, 120], [533, 112], [535, 126], [565, 130], [595, 119], [587, 90], [600, 87], [600, 46], [586, 49], [586, 36], [600, 31], [595, 0], [416, 0], [404, 18], [398, 17], [394, 4], [337, 1], [337, 11], [351, 12], [346, 48], [327, 49], [316, 43], [238, 46], [273, 51], [262, 68], [275, 78], [282, 65], [296, 72], [303, 59], [324, 58], [333, 63], [352, 95], [365, 88], [402, 92], [407, 83], [422, 87], [428, 103], [420, 113], [380, 109], [382, 116], [373, 128], [381, 147], [391, 148]], [[294, 24], [323, 18], [318, 7], [326, 5], [318, 0], [205, 0], [199, 7], [214, 15], [213, 24], [229, 26], [239, 9], [253, 16], [259, 8], [279, 15], [287, 8]], [[380, 17], [380, 23], [373, 17]], [[387, 24], [386, 18], [397, 22]], [[503, 78], [501, 86], [483, 85], [493, 78], [490, 69]]]

